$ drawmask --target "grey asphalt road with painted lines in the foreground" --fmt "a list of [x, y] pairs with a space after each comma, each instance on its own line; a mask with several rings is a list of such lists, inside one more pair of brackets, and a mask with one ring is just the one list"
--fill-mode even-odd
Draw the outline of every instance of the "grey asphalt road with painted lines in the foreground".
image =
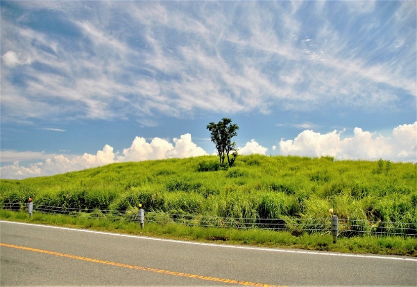
[[0, 257], [1, 286], [417, 286], [415, 257], [201, 244], [7, 221], [0, 221]]

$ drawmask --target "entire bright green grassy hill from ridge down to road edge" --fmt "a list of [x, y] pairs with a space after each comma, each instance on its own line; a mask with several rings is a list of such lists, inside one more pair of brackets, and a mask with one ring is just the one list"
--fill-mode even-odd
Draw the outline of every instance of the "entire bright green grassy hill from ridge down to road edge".
[[[416, 178], [412, 163], [331, 157], [239, 156], [228, 169], [220, 168], [215, 156], [115, 163], [51, 177], [2, 179], [0, 218], [186, 240], [417, 256]], [[77, 216], [36, 212], [32, 217], [7, 211], [24, 210], [30, 197], [34, 206], [82, 210]], [[146, 212], [144, 229], [123, 217], [136, 216], [139, 203]], [[353, 224], [339, 225], [336, 244], [329, 226], [323, 228], [323, 222], [330, 224], [330, 208], [339, 222]], [[151, 216], [176, 223], [153, 223]], [[309, 225], [318, 223], [306, 218], [326, 219]], [[282, 221], [285, 227], [280, 232], [208, 227], [246, 227], [261, 220]], [[305, 226], [319, 231], [300, 231]], [[361, 236], [392, 226], [414, 236]]]

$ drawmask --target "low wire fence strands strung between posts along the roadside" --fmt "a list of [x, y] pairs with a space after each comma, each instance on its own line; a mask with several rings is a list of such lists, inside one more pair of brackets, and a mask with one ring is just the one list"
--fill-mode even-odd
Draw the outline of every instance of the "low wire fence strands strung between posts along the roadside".
[[[0, 209], [26, 211], [26, 205], [0, 203]], [[34, 213], [59, 214], [85, 218], [105, 218], [110, 220], [138, 221], [138, 208], [132, 207], [125, 211], [67, 208], [45, 205], [33, 205]], [[214, 215], [193, 215], [189, 213], [145, 212], [145, 222], [158, 224], [175, 223], [187, 226], [220, 227], [236, 229], [264, 229], [273, 231], [289, 231], [294, 235], [302, 233], [331, 233], [331, 218], [234, 218]], [[339, 237], [368, 235], [400, 235], [417, 237], [417, 223], [367, 221], [338, 218]]]

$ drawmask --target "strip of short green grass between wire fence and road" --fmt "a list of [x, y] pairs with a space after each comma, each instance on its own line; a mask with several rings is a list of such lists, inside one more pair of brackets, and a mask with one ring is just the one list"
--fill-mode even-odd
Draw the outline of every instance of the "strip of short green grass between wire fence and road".
[[0, 218], [14, 221], [65, 225], [128, 234], [163, 236], [175, 239], [203, 242], [224, 242], [229, 244], [249, 244], [256, 246], [300, 248], [355, 253], [377, 253], [417, 256], [417, 238], [399, 236], [361, 236], [339, 238], [336, 244], [329, 234], [301, 234], [294, 236], [287, 231], [274, 232], [256, 229], [204, 228], [181, 224], [158, 224], [148, 222], [143, 229], [138, 224], [126, 220], [112, 220], [108, 217], [48, 215], [0, 210]]

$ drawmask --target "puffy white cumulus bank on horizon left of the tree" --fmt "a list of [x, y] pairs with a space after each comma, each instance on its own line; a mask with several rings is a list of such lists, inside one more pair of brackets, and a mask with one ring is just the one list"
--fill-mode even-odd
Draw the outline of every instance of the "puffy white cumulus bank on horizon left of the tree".
[[179, 139], [174, 138], [171, 144], [166, 140], [154, 138], [150, 143], [145, 138], [136, 137], [130, 147], [123, 149], [123, 154], [114, 152], [114, 148], [106, 144], [96, 154], [84, 153], [83, 155], [45, 154], [43, 152], [16, 152], [6, 151], [2, 162], [20, 160], [40, 160], [25, 167], [14, 160], [13, 164], [4, 165], [0, 168], [1, 178], [24, 179], [28, 177], [50, 176], [71, 171], [83, 170], [115, 162], [144, 161], [166, 158], [185, 158], [207, 155], [207, 152], [194, 144], [190, 134], [182, 135]]

